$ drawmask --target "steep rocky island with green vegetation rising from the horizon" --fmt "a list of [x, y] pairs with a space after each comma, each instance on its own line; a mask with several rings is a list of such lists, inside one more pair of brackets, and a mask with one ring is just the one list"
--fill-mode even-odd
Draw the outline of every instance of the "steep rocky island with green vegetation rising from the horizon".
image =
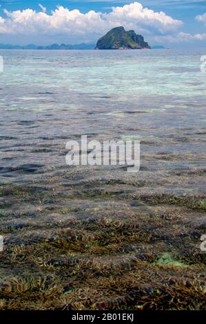
[[134, 30], [125, 31], [123, 26], [112, 28], [105, 36], [96, 43], [96, 50], [141, 50], [150, 48], [144, 41], [143, 36], [138, 35]]

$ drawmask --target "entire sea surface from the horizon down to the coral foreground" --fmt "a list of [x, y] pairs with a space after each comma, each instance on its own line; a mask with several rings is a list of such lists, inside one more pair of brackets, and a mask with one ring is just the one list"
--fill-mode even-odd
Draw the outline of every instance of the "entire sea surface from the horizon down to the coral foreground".
[[[204, 54], [0, 51], [0, 308], [205, 309]], [[138, 139], [140, 172], [66, 165], [83, 134]]]

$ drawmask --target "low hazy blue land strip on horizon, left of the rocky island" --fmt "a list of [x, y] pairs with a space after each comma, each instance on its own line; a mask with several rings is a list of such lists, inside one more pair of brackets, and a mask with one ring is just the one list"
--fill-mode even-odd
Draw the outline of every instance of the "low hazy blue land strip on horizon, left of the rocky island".
[[52, 44], [52, 45], [11, 45], [0, 44], [0, 50], [94, 50], [95, 44]]

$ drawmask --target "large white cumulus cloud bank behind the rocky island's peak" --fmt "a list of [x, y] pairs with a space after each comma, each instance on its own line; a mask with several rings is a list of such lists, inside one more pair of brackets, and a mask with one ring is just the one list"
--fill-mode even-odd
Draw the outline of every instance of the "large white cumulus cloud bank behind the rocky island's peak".
[[59, 6], [50, 14], [39, 4], [41, 12], [32, 9], [8, 11], [4, 10], [6, 18], [0, 17], [1, 34], [65, 34], [70, 39], [72, 35], [83, 39], [94, 39], [110, 28], [124, 26], [136, 32], [146, 34], [161, 33], [176, 30], [182, 21], [167, 16], [165, 12], [154, 12], [143, 8], [141, 3], [134, 2], [123, 7], [113, 7], [108, 14], [90, 10], [83, 14], [79, 10], [69, 10]]

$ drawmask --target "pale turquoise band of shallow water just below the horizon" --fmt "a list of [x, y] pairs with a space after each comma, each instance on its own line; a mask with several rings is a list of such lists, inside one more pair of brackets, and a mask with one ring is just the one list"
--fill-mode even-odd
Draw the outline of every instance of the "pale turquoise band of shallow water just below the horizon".
[[[31, 87], [30, 94], [34, 94], [31, 100], [37, 97], [39, 88], [59, 90], [59, 96], [67, 92], [66, 101], [74, 94], [76, 99], [82, 94], [93, 99], [106, 94], [118, 101], [145, 95], [196, 97], [206, 94], [205, 75], [200, 72], [203, 49], [190, 52], [1, 51], [0, 54], [5, 61], [1, 83], [16, 86], [16, 91], [19, 86], [22, 90], [25, 85], [28, 90]], [[21, 95], [17, 98], [23, 99], [24, 93]]]

